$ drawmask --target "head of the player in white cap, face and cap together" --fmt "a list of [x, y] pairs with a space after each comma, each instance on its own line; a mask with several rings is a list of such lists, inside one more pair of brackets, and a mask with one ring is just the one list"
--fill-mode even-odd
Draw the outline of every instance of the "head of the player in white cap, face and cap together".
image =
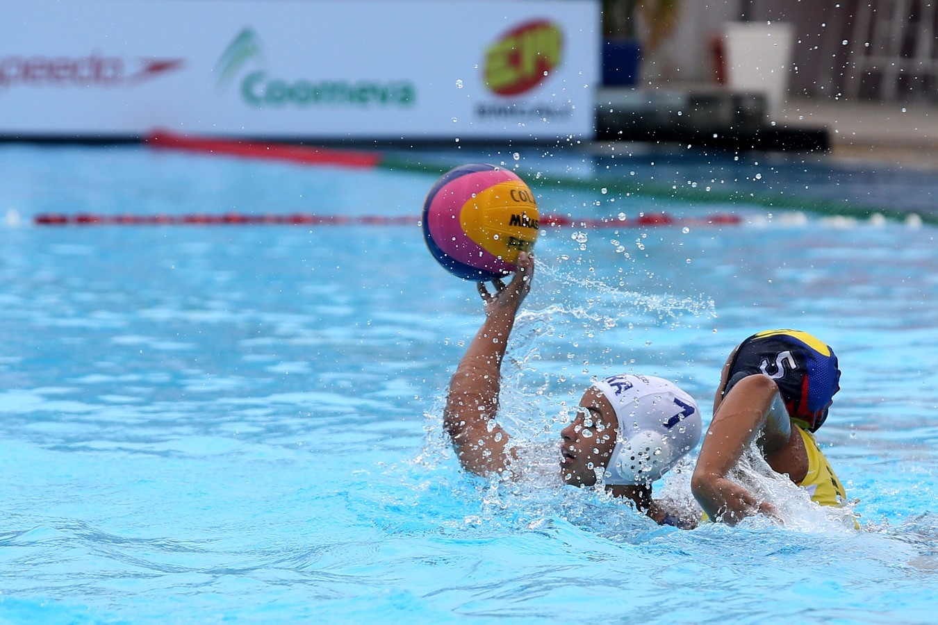
[[700, 441], [697, 403], [666, 379], [601, 379], [583, 394], [581, 408], [561, 433], [567, 484], [596, 484], [601, 471], [604, 484], [649, 486]]

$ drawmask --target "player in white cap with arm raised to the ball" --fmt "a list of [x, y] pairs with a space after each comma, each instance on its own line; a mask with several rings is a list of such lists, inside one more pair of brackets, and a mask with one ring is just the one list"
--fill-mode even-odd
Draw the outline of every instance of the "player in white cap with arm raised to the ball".
[[[513, 472], [518, 450], [495, 420], [501, 391], [501, 365], [508, 335], [531, 289], [534, 258], [522, 254], [509, 283], [483, 283], [479, 294], [486, 319], [463, 355], [449, 384], [444, 425], [464, 469], [478, 475]], [[601, 479], [615, 497], [633, 501], [660, 524], [693, 527], [652, 499], [651, 484], [701, 437], [696, 402], [672, 382], [650, 376], [601, 379], [582, 395], [578, 414], [561, 432], [560, 474], [566, 484], [593, 486]]]

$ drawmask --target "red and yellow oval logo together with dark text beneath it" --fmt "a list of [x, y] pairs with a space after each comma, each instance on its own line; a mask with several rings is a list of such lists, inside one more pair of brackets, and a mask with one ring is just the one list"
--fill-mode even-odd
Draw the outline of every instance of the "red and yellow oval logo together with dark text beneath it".
[[486, 49], [482, 64], [486, 86], [501, 99], [477, 104], [477, 117], [519, 123], [571, 117], [573, 108], [568, 102], [518, 99], [549, 80], [563, 64], [563, 55], [563, 33], [554, 22], [533, 20], [507, 31]]

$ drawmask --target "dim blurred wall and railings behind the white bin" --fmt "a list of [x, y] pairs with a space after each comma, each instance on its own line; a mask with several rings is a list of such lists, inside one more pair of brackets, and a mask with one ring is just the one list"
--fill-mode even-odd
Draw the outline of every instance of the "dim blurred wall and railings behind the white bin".
[[[727, 22], [794, 25], [790, 94], [936, 101], [938, 11], [929, 0], [685, 1], [673, 33], [646, 54], [644, 85], [715, 82], [713, 39]], [[647, 33], [647, 25], [639, 25]], [[648, 52], [648, 51], [645, 51]]]

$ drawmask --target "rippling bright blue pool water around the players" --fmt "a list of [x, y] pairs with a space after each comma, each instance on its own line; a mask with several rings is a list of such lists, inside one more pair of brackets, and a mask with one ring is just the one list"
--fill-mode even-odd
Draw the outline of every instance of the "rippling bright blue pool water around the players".
[[[879, 179], [910, 211], [938, 185], [758, 156], [643, 153], [611, 169], [571, 152], [435, 156], [518, 167], [544, 212], [743, 218], [544, 231], [505, 371], [519, 439], [556, 439], [561, 402], [623, 370], [677, 379], [707, 422], [729, 350], [797, 327], [840, 356], [819, 439], [861, 530], [784, 483], [763, 485], [784, 526], [682, 531], [549, 477], [462, 474], [441, 399], [481, 307], [416, 222], [31, 224], [83, 211], [416, 218], [434, 174], [7, 145], [0, 622], [933, 622], [934, 227], [534, 181], [733, 175], [794, 193], [810, 180], [807, 205], [838, 188], [876, 203]], [[689, 507], [687, 480], [658, 490]]]

